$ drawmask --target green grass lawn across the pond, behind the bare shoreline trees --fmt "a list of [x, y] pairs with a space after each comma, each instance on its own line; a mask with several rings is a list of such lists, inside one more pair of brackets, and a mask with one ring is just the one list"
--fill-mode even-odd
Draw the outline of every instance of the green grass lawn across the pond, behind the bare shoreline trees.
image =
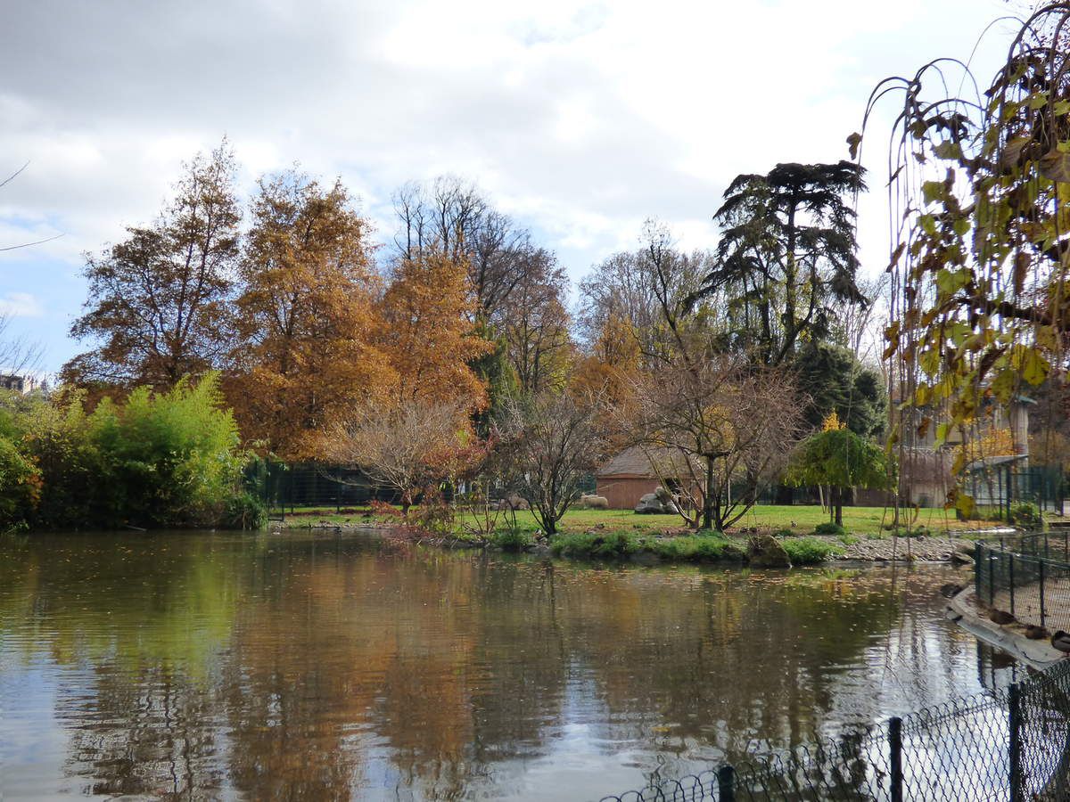
[[[287, 515], [288, 523], [293, 525], [307, 524], [310, 521], [326, 523], [360, 523], [367, 521], [363, 512], [342, 512], [338, 514], [333, 508], [316, 510], [297, 508], [299, 516]], [[905, 514], [905, 513], [904, 513]], [[913, 514], [913, 513], [911, 513]], [[463, 519], [462, 519], [463, 520]], [[503, 513], [499, 518], [499, 526], [506, 524]], [[819, 506], [777, 506], [761, 505], [751, 508], [736, 523], [740, 526], [760, 526], [770, 529], [792, 529], [797, 535], [813, 531], [814, 526], [828, 521], [828, 513]], [[882, 531], [882, 523], [891, 523], [891, 511], [884, 507], [844, 507], [843, 525], [847, 531], [855, 535], [875, 535]], [[905, 521], [904, 521], [905, 523]], [[988, 521], [956, 521], [954, 515], [942, 509], [922, 509], [912, 525], [926, 526], [934, 535], [947, 529], [976, 529], [993, 526]], [[531, 512], [518, 511], [517, 524], [523, 529], [537, 528]], [[684, 521], [679, 515], [640, 515], [631, 510], [569, 510], [559, 524], [565, 533], [582, 533], [601, 525], [609, 531], [627, 531], [639, 535], [657, 534], [666, 529], [679, 529]]]

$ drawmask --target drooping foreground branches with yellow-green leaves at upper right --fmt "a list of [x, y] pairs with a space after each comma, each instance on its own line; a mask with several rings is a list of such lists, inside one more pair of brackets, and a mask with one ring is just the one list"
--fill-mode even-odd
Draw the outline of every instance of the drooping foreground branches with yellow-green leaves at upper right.
[[[1050, 376], [1070, 336], [1070, 3], [1022, 20], [984, 89], [941, 59], [874, 90], [866, 120], [898, 96], [888, 192], [893, 277], [887, 358], [901, 401], [893, 439], [935, 427], [936, 444], [978, 430]], [[949, 95], [948, 87], [962, 87]], [[866, 127], [863, 125], [863, 133]], [[860, 135], [849, 137], [855, 155]], [[901, 459], [903, 451], [901, 449]], [[952, 472], [965, 467], [960, 451]], [[964, 514], [973, 499], [952, 498]]]

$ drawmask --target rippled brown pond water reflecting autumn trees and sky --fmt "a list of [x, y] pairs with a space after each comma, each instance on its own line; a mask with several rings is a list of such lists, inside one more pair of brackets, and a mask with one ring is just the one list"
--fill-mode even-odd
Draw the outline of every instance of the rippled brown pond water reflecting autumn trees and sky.
[[0, 797], [597, 799], [973, 693], [946, 567], [0, 539]]

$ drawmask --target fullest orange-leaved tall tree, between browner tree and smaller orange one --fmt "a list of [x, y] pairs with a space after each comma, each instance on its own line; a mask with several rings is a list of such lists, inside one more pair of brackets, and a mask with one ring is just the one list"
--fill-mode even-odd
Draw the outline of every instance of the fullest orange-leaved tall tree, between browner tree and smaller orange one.
[[228, 398], [246, 438], [284, 459], [315, 457], [321, 430], [396, 381], [374, 343], [367, 231], [340, 182], [324, 187], [296, 171], [260, 181]]

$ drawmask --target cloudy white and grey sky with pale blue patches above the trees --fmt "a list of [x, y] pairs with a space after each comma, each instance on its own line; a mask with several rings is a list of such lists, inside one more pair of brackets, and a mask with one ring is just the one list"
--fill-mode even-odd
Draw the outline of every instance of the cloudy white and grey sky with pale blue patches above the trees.
[[[48, 370], [79, 350], [66, 330], [85, 298], [81, 253], [150, 220], [181, 163], [224, 135], [245, 191], [301, 161], [340, 175], [383, 238], [399, 184], [472, 179], [580, 278], [651, 216], [686, 247], [713, 246], [734, 175], [845, 157], [877, 80], [967, 58], [1007, 13], [1000, 0], [0, 7], [0, 173], [29, 161], [0, 188], [0, 246], [62, 234], [0, 252], [0, 310], [41, 341]], [[982, 73], [1006, 43], [999, 30], [987, 40]], [[884, 152], [869, 143], [874, 167]], [[882, 200], [878, 186], [860, 206], [874, 272]]]

